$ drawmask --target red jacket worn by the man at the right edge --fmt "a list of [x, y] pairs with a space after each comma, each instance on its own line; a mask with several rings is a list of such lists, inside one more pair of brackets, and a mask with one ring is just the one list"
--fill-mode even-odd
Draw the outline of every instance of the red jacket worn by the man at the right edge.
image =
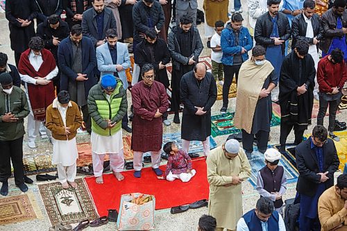
[[317, 81], [319, 92], [332, 92], [332, 87], [344, 87], [347, 80], [347, 71], [345, 62], [333, 64], [328, 60], [329, 55], [326, 55], [318, 63]]

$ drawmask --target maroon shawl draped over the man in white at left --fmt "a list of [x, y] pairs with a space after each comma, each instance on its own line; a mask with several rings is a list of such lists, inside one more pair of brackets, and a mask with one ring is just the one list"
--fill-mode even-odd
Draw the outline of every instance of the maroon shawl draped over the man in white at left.
[[[56, 60], [54, 60], [51, 51], [43, 49], [41, 51], [43, 60], [42, 65], [38, 71], [35, 71], [28, 58], [30, 53], [31, 49], [27, 49], [21, 55], [18, 65], [18, 71], [20, 74], [28, 75], [32, 78], [37, 76], [44, 78], [56, 68]], [[54, 99], [53, 83], [51, 82], [47, 85], [28, 84], [28, 96], [31, 110], [33, 110], [34, 119], [44, 121], [44, 119], [46, 119], [46, 108], [53, 103]]]

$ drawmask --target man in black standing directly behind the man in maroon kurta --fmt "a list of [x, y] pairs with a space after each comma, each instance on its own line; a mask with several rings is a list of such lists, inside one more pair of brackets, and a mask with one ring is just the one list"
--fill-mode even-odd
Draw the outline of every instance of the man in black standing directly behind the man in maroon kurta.
[[[146, 63], [151, 63], [155, 71], [155, 81], [162, 83], [166, 89], [169, 88], [169, 77], [167, 76], [167, 65], [170, 60], [170, 51], [164, 40], [157, 37], [155, 29], [146, 31], [144, 40], [137, 44], [135, 49], [135, 62], [142, 68]], [[142, 78], [139, 77], [139, 80]], [[162, 114], [162, 122], [169, 126], [171, 122], [167, 119], [167, 112]]]

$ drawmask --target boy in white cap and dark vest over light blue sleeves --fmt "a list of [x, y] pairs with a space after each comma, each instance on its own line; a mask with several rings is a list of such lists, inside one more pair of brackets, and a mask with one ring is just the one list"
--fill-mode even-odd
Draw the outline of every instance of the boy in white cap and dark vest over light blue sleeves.
[[264, 153], [265, 166], [258, 171], [257, 192], [262, 197], [273, 201], [275, 210], [282, 214], [282, 196], [287, 190], [287, 178], [283, 166], [279, 166], [281, 153], [275, 148], [269, 148]]

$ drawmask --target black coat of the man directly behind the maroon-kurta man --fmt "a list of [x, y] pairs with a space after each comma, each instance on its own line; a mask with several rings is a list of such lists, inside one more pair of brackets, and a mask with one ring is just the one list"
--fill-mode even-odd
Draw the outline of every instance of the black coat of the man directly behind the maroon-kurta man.
[[167, 65], [171, 60], [170, 52], [167, 48], [167, 43], [160, 38], [157, 38], [153, 46], [155, 62], [152, 62], [151, 52], [146, 46], [146, 40], [142, 40], [142, 42], [137, 44], [135, 49], [135, 63], [137, 63], [140, 68], [146, 63], [151, 63], [155, 71], [155, 80], [162, 83], [164, 87], [167, 88], [170, 85], [167, 76], [167, 68], [159, 69], [159, 63], [162, 62], [162, 65]]

